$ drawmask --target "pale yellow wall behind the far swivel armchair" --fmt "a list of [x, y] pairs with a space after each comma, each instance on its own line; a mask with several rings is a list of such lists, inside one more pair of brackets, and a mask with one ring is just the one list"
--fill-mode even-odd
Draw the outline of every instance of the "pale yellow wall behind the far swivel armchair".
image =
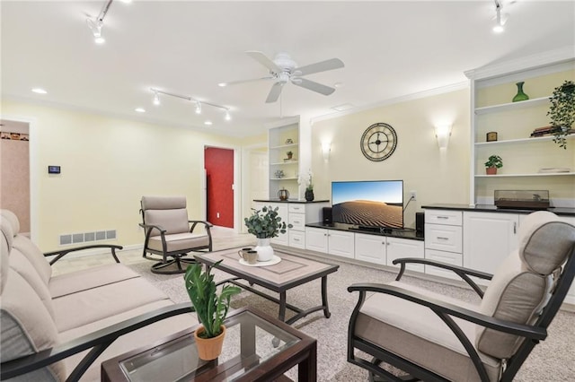
[[[239, 148], [243, 141], [170, 126], [3, 101], [4, 117], [31, 119], [33, 176], [38, 178], [40, 248], [58, 248], [58, 236], [117, 230], [117, 243], [141, 245], [142, 195], [185, 195], [190, 219], [203, 217], [204, 146]], [[36, 149], [34, 149], [36, 147]], [[47, 167], [59, 165], [60, 175]], [[32, 189], [34, 186], [32, 186]], [[34, 204], [34, 202], [32, 202]], [[32, 230], [34, 227], [32, 227]]]

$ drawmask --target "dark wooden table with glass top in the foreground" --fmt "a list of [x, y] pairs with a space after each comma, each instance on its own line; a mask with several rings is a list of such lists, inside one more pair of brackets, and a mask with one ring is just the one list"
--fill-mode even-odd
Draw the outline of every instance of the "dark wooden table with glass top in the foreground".
[[[200, 360], [190, 327], [164, 340], [102, 362], [102, 381], [299, 381], [317, 380], [317, 342], [254, 308], [230, 312], [217, 360]], [[276, 346], [273, 340], [279, 342]]]

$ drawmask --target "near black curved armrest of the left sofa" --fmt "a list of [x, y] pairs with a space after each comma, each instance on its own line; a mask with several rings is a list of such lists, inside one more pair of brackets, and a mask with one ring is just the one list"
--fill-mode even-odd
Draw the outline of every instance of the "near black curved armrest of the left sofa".
[[82, 377], [86, 369], [93, 364], [93, 361], [96, 360], [100, 354], [102, 354], [102, 352], [120, 336], [163, 320], [164, 318], [193, 311], [195, 311], [195, 309], [189, 302], [173, 305], [171, 307], [159, 308], [152, 312], [122, 321], [116, 325], [108, 326], [91, 334], [86, 334], [67, 343], [59, 344], [45, 351], [22, 357], [18, 360], [3, 362], [0, 379], [4, 380], [29, 373], [35, 369], [43, 368], [51, 363], [57, 362], [58, 360], [64, 360], [71, 355], [78, 352], [84, 352], [85, 350], [92, 348], [92, 350], [85, 355], [67, 378], [67, 380], [71, 381], [78, 380]]

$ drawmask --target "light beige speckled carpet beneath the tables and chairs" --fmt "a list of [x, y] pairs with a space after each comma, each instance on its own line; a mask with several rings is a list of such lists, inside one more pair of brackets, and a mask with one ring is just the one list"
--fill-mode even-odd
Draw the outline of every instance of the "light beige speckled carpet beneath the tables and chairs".
[[[328, 276], [329, 305], [332, 317], [326, 319], [323, 312], [315, 312], [296, 322], [295, 327], [317, 339], [318, 380], [320, 381], [362, 381], [367, 380], [367, 371], [349, 364], [346, 356], [349, 315], [354, 308], [357, 293], [349, 293], [347, 287], [354, 282], [388, 282], [394, 279], [394, 273], [375, 270], [360, 265], [349, 265], [337, 260], [340, 265], [336, 273]], [[183, 288], [181, 274], [160, 275], [149, 272], [149, 262], [129, 265], [141, 273], [156, 287], [167, 293], [175, 302], [188, 301]], [[226, 273], [216, 271], [216, 280], [228, 277]], [[477, 300], [474, 292], [437, 282], [427, 282], [413, 277], [403, 280], [423, 286], [432, 291], [462, 299]], [[321, 303], [319, 280], [307, 283], [288, 291], [288, 302], [301, 308], [309, 308]], [[248, 291], [234, 297], [233, 307], [252, 305], [255, 308], [277, 317], [278, 306]], [[289, 313], [288, 317], [293, 313]], [[549, 327], [549, 337], [535, 347], [534, 352], [517, 374], [516, 381], [567, 381], [575, 380], [575, 314], [560, 311]], [[288, 377], [296, 380], [295, 370]]]

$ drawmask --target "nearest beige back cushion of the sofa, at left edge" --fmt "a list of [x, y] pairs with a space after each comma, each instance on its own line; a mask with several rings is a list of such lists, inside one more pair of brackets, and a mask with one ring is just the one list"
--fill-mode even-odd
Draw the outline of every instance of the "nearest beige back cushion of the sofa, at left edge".
[[[0, 326], [2, 327], [2, 362], [14, 360], [34, 352], [49, 349], [57, 344], [57, 328], [31, 285], [13, 269], [8, 273], [2, 292]], [[22, 303], [25, 301], [25, 303]], [[64, 380], [63, 362], [40, 369], [29, 380]]]

